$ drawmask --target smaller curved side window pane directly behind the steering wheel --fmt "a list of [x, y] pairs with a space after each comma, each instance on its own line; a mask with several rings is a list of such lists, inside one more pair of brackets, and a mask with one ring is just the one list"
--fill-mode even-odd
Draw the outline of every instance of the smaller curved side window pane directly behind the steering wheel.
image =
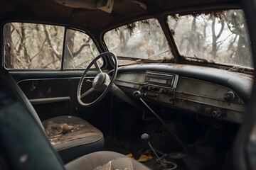
[[[92, 39], [78, 30], [67, 30], [65, 40], [64, 69], [85, 69], [99, 55]], [[98, 60], [100, 66], [103, 60]]]

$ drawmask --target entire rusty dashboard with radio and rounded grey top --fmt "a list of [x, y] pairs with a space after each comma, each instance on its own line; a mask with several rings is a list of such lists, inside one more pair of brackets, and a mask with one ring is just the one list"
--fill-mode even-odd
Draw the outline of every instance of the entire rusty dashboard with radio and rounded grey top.
[[119, 69], [115, 84], [128, 95], [218, 120], [242, 123], [253, 78], [198, 66], [152, 64]]

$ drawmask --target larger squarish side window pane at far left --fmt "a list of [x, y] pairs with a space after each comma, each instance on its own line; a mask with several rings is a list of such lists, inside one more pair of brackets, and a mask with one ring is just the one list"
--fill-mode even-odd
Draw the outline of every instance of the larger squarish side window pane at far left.
[[60, 69], [64, 27], [34, 23], [4, 26], [6, 69]]

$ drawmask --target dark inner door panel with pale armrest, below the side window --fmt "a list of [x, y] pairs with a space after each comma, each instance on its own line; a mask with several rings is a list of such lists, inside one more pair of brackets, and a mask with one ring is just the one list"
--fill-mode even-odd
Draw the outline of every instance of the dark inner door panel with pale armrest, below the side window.
[[[41, 120], [58, 115], [76, 115], [92, 125], [108, 132], [110, 130], [110, 95], [92, 107], [82, 107], [77, 100], [78, 82], [82, 72], [10, 72], [31, 101]], [[88, 72], [87, 77], [95, 77]], [[87, 84], [85, 89], [89, 89]], [[95, 98], [92, 94], [90, 98]]]

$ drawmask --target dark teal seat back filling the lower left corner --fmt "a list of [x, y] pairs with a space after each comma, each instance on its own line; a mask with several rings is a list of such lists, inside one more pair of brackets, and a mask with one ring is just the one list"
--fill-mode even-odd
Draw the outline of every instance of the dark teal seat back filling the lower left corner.
[[11, 169], [65, 169], [42, 127], [28, 98], [0, 68], [0, 151]]

